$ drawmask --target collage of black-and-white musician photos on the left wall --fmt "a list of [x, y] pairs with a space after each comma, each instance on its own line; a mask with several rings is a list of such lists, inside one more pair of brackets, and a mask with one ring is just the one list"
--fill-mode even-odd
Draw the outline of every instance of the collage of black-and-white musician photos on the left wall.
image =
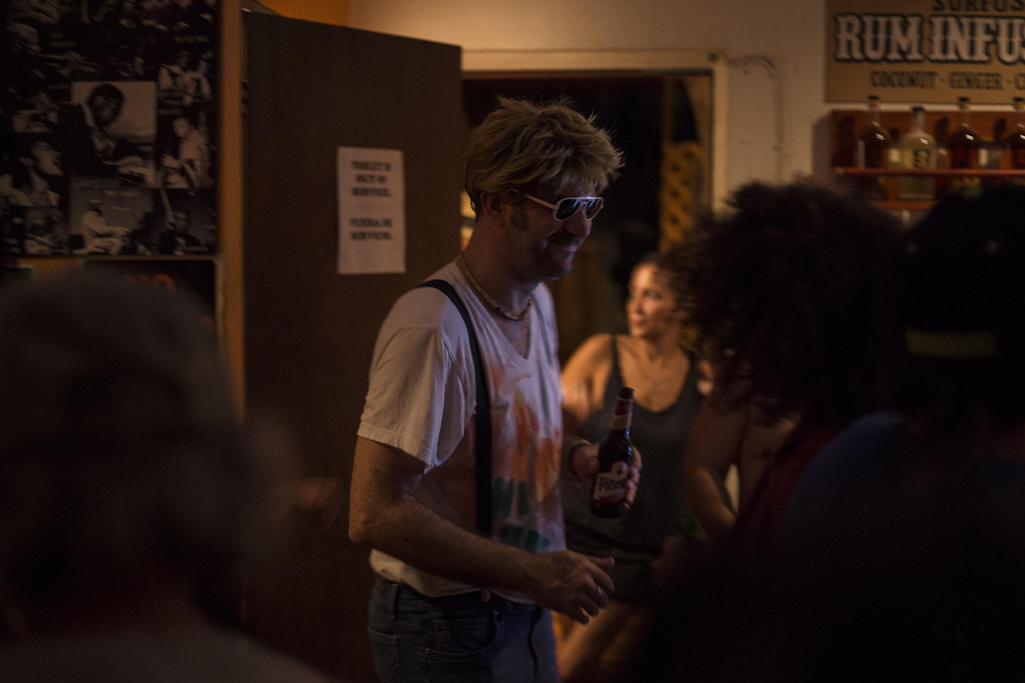
[[0, 6], [3, 252], [216, 252], [218, 0]]

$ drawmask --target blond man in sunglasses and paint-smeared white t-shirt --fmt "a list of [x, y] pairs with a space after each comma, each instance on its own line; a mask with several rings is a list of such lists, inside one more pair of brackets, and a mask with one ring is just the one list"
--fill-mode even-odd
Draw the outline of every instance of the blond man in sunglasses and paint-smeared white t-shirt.
[[[563, 457], [555, 311], [542, 283], [572, 269], [620, 164], [608, 135], [562, 104], [502, 99], [470, 134], [474, 235], [432, 280], [464, 305], [485, 367], [485, 530], [466, 323], [446, 294], [422, 287], [381, 326], [350, 535], [373, 548], [368, 631], [384, 681], [557, 681], [548, 610], [586, 622], [614, 590], [611, 559], [566, 550], [558, 479], [593, 472], [597, 446]], [[636, 480], [634, 469], [631, 493]]]

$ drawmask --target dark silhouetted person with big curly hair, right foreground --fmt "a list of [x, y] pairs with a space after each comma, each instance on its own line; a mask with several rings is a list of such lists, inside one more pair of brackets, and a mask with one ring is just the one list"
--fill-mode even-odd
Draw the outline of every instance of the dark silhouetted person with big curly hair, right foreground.
[[[694, 236], [691, 320], [715, 387], [684, 456], [699, 519], [722, 511], [708, 525], [723, 522], [723, 552], [658, 595], [632, 678], [622, 680], [886, 679], [861, 668], [878, 660], [862, 646], [885, 625], [847, 620], [866, 592], [837, 587], [780, 544], [808, 463], [853, 420], [896, 404], [900, 230], [870, 206], [804, 185], [746, 186], [731, 207]], [[739, 516], [722, 489], [735, 460]], [[907, 634], [910, 652], [921, 643]]]

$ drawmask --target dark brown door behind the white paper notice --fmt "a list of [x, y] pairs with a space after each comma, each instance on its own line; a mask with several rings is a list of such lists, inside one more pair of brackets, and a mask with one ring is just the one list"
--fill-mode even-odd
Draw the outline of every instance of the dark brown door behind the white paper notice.
[[[328, 673], [375, 680], [367, 551], [345, 530], [353, 446], [388, 307], [459, 247], [460, 50], [258, 13], [245, 33], [247, 404], [283, 418], [303, 474], [339, 484], [332, 514], [293, 514], [288, 547], [250, 571], [247, 622]], [[405, 274], [336, 273], [339, 146], [403, 151]]]

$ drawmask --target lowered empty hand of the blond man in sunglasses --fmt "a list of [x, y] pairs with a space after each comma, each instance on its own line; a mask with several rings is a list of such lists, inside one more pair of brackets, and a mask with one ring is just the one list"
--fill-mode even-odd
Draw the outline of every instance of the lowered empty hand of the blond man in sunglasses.
[[532, 555], [527, 562], [530, 585], [524, 590], [536, 604], [587, 624], [609, 604], [614, 587], [605, 568], [611, 557], [592, 557], [573, 551]]

